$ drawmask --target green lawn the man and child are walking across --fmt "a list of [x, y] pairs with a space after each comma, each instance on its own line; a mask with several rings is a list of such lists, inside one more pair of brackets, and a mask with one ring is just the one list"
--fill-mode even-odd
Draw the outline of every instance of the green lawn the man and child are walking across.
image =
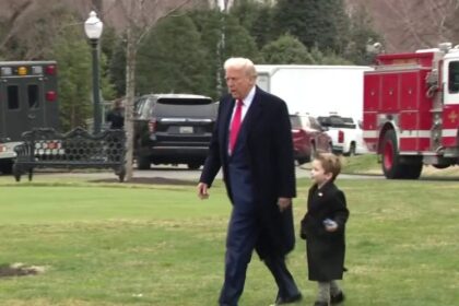
[[[345, 305], [458, 305], [459, 185], [341, 179], [351, 210]], [[309, 181], [298, 181], [295, 222]], [[0, 264], [40, 266], [0, 279], [0, 305], [216, 305], [229, 204], [216, 184], [190, 186], [0, 178]], [[311, 305], [304, 242], [289, 266]], [[254, 256], [242, 306], [272, 303], [274, 282]]]

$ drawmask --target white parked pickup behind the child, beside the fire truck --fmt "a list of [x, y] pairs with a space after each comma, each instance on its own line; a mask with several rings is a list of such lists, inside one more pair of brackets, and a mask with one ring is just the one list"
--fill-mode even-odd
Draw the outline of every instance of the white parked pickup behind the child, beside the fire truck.
[[338, 115], [317, 117], [320, 125], [327, 128], [327, 133], [332, 139], [334, 153], [355, 155], [367, 153], [363, 140], [362, 125], [351, 117]]

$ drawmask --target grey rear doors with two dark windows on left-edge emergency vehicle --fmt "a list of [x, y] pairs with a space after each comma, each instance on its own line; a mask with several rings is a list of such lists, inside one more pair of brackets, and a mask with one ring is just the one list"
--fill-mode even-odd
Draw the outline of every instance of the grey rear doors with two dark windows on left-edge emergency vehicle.
[[44, 87], [38, 78], [9, 78], [1, 86], [1, 122], [3, 134], [20, 140], [24, 131], [44, 127]]

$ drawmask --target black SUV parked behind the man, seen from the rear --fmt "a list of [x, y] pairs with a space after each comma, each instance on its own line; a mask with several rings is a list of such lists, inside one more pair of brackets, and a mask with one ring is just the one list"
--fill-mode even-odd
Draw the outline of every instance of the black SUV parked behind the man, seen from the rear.
[[203, 165], [217, 104], [189, 94], [150, 94], [134, 104], [134, 154], [139, 169], [151, 164]]

